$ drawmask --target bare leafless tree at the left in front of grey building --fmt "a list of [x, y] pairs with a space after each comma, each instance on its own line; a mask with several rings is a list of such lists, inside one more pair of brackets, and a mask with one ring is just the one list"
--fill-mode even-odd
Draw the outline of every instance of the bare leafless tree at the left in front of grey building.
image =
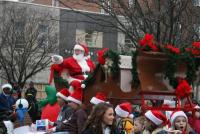
[[49, 13], [38, 13], [25, 6], [3, 6], [0, 18], [0, 77], [17, 82], [49, 66], [56, 51], [57, 33]]

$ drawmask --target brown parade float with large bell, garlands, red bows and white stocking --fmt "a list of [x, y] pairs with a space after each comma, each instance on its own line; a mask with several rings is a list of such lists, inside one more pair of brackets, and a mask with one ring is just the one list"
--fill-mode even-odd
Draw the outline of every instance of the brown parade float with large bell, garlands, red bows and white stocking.
[[[151, 34], [139, 41], [139, 47], [130, 55], [104, 48], [97, 52], [98, 64], [93, 73], [82, 83], [84, 104], [96, 92], [104, 92], [112, 104], [128, 100], [141, 105], [143, 110], [183, 109], [187, 102], [192, 111], [192, 84], [199, 77], [200, 42], [193, 42], [190, 47], [177, 48], [173, 44], [160, 45]], [[66, 81], [54, 72], [54, 81], [61, 84]], [[60, 85], [59, 84], [59, 85]], [[65, 84], [67, 85], [67, 84]], [[153, 106], [146, 100], [155, 102]], [[164, 100], [173, 100], [175, 107], [162, 107]]]

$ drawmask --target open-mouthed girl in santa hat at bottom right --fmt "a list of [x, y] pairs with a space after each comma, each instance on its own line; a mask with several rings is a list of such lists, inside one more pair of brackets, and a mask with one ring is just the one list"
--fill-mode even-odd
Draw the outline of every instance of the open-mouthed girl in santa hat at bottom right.
[[196, 134], [190, 127], [188, 117], [183, 111], [174, 111], [170, 116], [170, 123], [171, 129], [178, 130], [181, 134]]

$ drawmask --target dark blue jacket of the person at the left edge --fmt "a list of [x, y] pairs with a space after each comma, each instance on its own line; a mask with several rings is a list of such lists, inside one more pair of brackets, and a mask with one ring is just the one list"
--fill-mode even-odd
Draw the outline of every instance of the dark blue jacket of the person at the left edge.
[[15, 104], [15, 99], [12, 96], [5, 96], [4, 93], [0, 94], [0, 111], [13, 110], [12, 105]]

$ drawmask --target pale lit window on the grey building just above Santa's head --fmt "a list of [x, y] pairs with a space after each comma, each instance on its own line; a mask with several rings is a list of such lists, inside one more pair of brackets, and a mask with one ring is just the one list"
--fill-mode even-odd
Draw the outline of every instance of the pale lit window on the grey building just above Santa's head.
[[103, 32], [76, 30], [76, 42], [86, 43], [91, 48], [103, 47]]

